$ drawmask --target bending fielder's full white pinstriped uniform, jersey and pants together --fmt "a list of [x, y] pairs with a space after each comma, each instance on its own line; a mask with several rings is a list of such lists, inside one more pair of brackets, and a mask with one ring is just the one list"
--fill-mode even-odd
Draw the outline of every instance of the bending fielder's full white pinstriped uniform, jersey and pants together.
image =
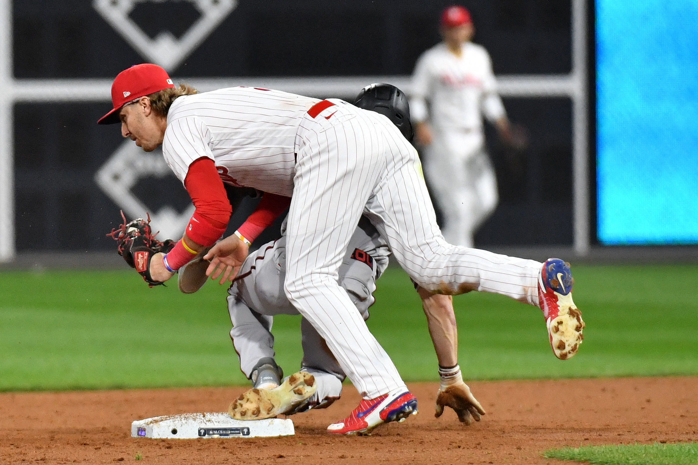
[[364, 398], [401, 392], [406, 386], [392, 360], [337, 284], [362, 213], [410, 277], [433, 291], [477, 289], [537, 305], [542, 264], [446, 243], [417, 151], [400, 131], [385, 116], [342, 100], [322, 100], [306, 112], [313, 101], [252, 88], [180, 97], [168, 116], [165, 160], [184, 179], [188, 163], [209, 156], [241, 185], [292, 193], [288, 300], [325, 339]]

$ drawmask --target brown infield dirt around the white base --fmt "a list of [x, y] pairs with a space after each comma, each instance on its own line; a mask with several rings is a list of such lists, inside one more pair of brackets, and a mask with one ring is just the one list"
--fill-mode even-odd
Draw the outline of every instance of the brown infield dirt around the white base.
[[466, 427], [434, 418], [436, 383], [413, 383], [419, 415], [369, 437], [325, 433], [359, 402], [352, 386], [329, 409], [293, 416], [296, 435], [267, 439], [131, 438], [131, 422], [225, 411], [245, 388], [0, 394], [0, 463], [21, 464], [562, 464], [565, 445], [698, 441], [698, 378], [477, 381], [487, 409]]

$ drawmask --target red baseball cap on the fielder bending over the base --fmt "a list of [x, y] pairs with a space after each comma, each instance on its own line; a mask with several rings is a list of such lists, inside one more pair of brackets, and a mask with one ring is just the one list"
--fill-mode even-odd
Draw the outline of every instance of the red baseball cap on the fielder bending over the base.
[[121, 71], [112, 84], [111, 112], [102, 116], [97, 124], [119, 123], [119, 110], [137, 98], [174, 87], [168, 72], [151, 63], [133, 65]]

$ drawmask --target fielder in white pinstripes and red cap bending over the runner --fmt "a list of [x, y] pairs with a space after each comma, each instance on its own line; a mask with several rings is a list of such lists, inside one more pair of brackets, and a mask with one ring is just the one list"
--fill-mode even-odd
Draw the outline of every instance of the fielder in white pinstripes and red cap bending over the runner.
[[247, 257], [248, 236], [270, 224], [278, 204], [292, 196], [283, 290], [364, 397], [328, 432], [369, 432], [417, 409], [417, 399], [337, 282], [362, 215], [426, 291], [487, 291], [537, 305], [556, 356], [576, 353], [584, 324], [572, 302], [569, 265], [447, 243], [417, 152], [385, 116], [343, 100], [269, 89], [188, 94], [162, 68], [133, 66], [114, 79], [113, 108], [99, 121], [121, 122], [122, 135], [145, 151], [162, 144], [165, 161], [195, 206], [177, 245], [148, 257], [149, 273], [164, 282], [221, 237], [231, 213], [223, 182], [265, 192], [258, 211], [238, 229], [235, 246], [225, 253], [211, 249], [211, 267], [223, 266], [225, 273], [232, 268], [235, 274]]

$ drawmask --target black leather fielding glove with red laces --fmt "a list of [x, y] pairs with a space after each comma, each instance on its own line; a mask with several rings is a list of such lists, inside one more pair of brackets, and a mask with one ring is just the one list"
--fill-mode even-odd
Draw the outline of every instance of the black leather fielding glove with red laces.
[[117, 252], [124, 257], [128, 266], [135, 268], [148, 283], [149, 287], [165, 284], [161, 281], [154, 281], [150, 275], [150, 261], [153, 255], [159, 252], [168, 253], [174, 248], [175, 242], [167, 239], [164, 242], [158, 241], [152, 234], [150, 228], [150, 215], [147, 220], [136, 218], [132, 222], [126, 222], [124, 212], [121, 212], [124, 223], [118, 229], [112, 229], [107, 236], [117, 241]]

